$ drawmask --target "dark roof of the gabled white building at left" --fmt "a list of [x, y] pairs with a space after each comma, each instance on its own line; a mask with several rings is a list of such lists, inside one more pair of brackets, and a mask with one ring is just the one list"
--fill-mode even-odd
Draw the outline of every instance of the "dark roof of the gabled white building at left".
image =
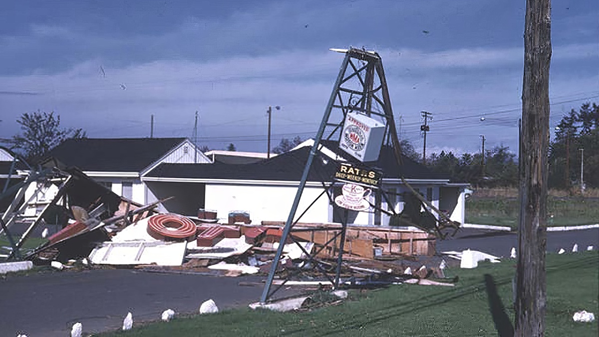
[[66, 166], [82, 171], [139, 172], [185, 138], [68, 139], [50, 151]]

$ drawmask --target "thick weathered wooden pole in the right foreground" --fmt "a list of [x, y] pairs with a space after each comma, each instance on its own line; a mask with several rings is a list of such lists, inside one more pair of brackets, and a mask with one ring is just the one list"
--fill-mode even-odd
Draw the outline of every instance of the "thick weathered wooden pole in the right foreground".
[[544, 336], [547, 302], [547, 147], [551, 1], [527, 0], [515, 336]]

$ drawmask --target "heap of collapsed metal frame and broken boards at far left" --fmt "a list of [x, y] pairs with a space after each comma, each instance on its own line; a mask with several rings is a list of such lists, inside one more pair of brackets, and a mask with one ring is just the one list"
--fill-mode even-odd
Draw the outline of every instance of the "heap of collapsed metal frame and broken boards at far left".
[[[17, 160], [15, 157], [14, 161]], [[10, 243], [10, 252], [0, 255], [6, 260], [66, 260], [70, 256], [87, 256], [95, 243], [108, 238], [106, 227], [124, 227], [146, 218], [156, 213], [155, 207], [165, 201], [159, 200], [146, 206], [134, 203], [95, 182], [79, 169], [60, 167], [53, 161], [47, 161], [35, 169], [28, 166], [28, 169], [29, 174], [23, 181], [9, 187], [10, 180], [7, 180], [0, 194], [0, 200], [14, 196], [0, 218], [0, 234], [4, 233]], [[16, 176], [14, 165], [10, 176]], [[26, 198], [26, 191], [32, 185], [35, 190]], [[26, 214], [32, 201], [53, 187], [57, 190], [52, 200], [43, 209], [36, 209], [34, 214]], [[18, 240], [11, 233], [14, 232], [11, 227], [17, 222], [26, 224]], [[23, 244], [43, 223], [66, 224], [66, 227], [50, 236], [48, 242], [23, 255]]]

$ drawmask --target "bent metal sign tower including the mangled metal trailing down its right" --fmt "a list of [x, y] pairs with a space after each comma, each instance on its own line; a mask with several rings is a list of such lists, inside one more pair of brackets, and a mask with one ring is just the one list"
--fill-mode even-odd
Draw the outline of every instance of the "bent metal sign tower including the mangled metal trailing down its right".
[[[437, 207], [426, 200], [426, 198], [419, 192], [415, 191], [415, 189], [407, 183], [401, 172], [401, 166], [403, 164], [401, 146], [397, 137], [397, 130], [395, 129], [395, 119], [391, 109], [391, 99], [389, 98], [385, 71], [383, 70], [382, 59], [379, 54], [367, 51], [364, 48], [356, 49], [353, 47], [350, 47], [348, 50], [331, 50], [344, 53], [345, 58], [341, 64], [322, 122], [316, 133], [316, 137], [314, 137], [314, 144], [311, 148], [310, 155], [305, 163], [294, 203], [285, 223], [279, 248], [277, 249], [270, 273], [268, 274], [268, 279], [262, 292], [261, 303], [266, 303], [270, 300], [271, 296], [273, 296], [277, 290], [282, 288], [292, 276], [302, 272], [300, 268], [296, 273], [288, 276], [282, 282], [276, 282], [279, 284], [279, 287], [271, 291], [277, 267], [279, 266], [280, 258], [282, 257], [283, 245], [288, 239], [297, 243], [308, 257], [308, 263], [314, 262], [317, 269], [322, 272], [323, 276], [325, 276], [335, 288], [339, 287], [344, 242], [346, 239], [347, 217], [350, 209], [357, 210], [359, 207], [359, 210], [364, 210], [365, 208], [373, 207], [375, 210], [391, 216], [389, 225], [413, 225], [422, 228], [425, 231], [434, 233], [441, 239], [444, 239], [448, 234], [447, 232], [444, 232], [444, 230], [452, 228], [453, 234], [455, 234], [460, 225], [459, 222], [449, 219], [449, 216], [440, 212]], [[393, 157], [395, 158], [395, 161], [397, 161], [397, 166], [400, 168], [399, 174], [401, 182], [409, 189], [410, 193], [404, 195], [406, 207], [404, 207], [404, 211], [401, 213], [395, 212], [395, 209], [391, 209], [391, 212], [388, 212], [388, 210], [382, 209], [376, 204], [371, 204], [369, 201], [368, 207], [362, 207], [362, 205], [352, 207], [356, 205], [355, 203], [346, 205], [337, 203], [344, 208], [343, 215], [338, 215], [343, 219], [340, 230], [338, 230], [337, 233], [315, 254], [310, 254], [299, 245], [299, 241], [294, 235], [291, 235], [291, 233], [296, 233], [298, 231], [317, 231], [319, 229], [328, 230], [328, 228], [295, 228], [294, 226], [298, 224], [299, 219], [301, 219], [307, 210], [314, 204], [314, 202], [310, 204], [304, 212], [295, 218], [295, 213], [297, 212], [299, 201], [308, 179], [308, 173], [310, 173], [311, 170], [316, 169], [316, 167], [313, 166], [314, 159], [316, 158], [325, 162], [331, 160], [330, 156], [323, 155], [322, 145], [322, 143], [330, 142], [337, 145], [337, 149], [334, 149], [334, 151], [337, 155], [337, 160], [335, 161], [337, 161], [339, 169], [334, 177], [321, 175], [323, 192], [317, 198], [320, 198], [321, 195], [326, 193], [329, 201], [335, 203], [338, 198], [343, 197], [338, 196], [335, 198], [331, 192], [332, 187], [339, 185], [340, 183], [346, 183], [346, 186], [349, 186], [348, 189], [353, 189], [353, 191], [348, 192], [349, 198], [354, 198], [356, 196], [356, 189], [358, 190], [358, 194], [361, 194], [364, 189], [368, 188], [373, 189], [380, 197], [385, 198], [385, 200], [389, 202], [389, 193], [380, 188], [381, 178], [384, 176], [384, 173], [380, 169], [373, 167], [376, 165], [376, 161], [378, 160], [380, 151], [383, 147], [392, 149]], [[339, 154], [343, 154], [343, 158], [340, 158]], [[356, 186], [360, 187], [356, 188]], [[421, 207], [425, 210], [424, 215], [420, 212]], [[427, 208], [437, 213], [438, 218], [435, 218], [435, 216], [429, 213]], [[340, 210], [334, 208], [334, 212], [340, 212]], [[318, 255], [326, 245], [337, 240], [337, 237], [340, 237], [340, 243], [335, 277], [332, 278], [328, 271], [323, 267], [324, 265], [330, 266], [330, 264], [317, 261], [314, 257]]]

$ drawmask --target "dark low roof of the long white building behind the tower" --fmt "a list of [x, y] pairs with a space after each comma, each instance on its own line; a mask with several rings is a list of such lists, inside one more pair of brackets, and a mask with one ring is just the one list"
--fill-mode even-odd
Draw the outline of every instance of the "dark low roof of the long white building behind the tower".
[[[327, 143], [331, 149], [332, 144]], [[310, 154], [310, 146], [286, 152], [267, 160], [253, 164], [160, 164], [150, 171], [148, 177], [198, 178], [198, 179], [239, 179], [239, 180], [291, 180], [299, 181], [304, 171], [305, 162]], [[344, 155], [344, 158], [349, 155]], [[308, 181], [330, 181], [337, 169], [335, 161], [323, 155], [326, 163], [314, 158], [308, 173]], [[370, 163], [371, 167], [383, 170], [385, 178], [399, 178], [397, 163], [390, 148], [383, 148], [379, 161]], [[448, 180], [445, 174], [432, 173], [407, 157], [403, 158], [401, 171], [406, 179], [438, 179]]]

